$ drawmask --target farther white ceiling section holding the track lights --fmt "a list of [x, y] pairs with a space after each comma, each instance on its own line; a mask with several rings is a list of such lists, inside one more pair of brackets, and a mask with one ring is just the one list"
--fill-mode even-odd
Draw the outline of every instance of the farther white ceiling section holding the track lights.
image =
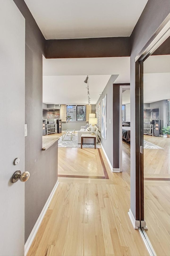
[[[111, 75], [90, 75], [91, 104], [96, 104]], [[117, 76], [115, 76], [116, 79]], [[43, 77], [43, 102], [47, 104], [88, 104], [84, 75]]]

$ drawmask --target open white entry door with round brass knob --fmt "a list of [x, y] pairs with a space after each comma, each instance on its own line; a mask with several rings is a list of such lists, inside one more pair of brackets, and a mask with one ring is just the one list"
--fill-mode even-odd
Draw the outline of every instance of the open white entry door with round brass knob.
[[[0, 255], [24, 255], [25, 19], [13, 0], [0, 8]], [[13, 165], [15, 158], [18, 165]]]

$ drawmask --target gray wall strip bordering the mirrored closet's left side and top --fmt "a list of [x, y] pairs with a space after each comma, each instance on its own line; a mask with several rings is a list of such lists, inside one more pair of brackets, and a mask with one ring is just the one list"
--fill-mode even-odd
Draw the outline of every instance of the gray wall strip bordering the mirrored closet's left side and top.
[[131, 138], [130, 138], [130, 156], [131, 156], [131, 190], [130, 198], [131, 211], [136, 218], [136, 161], [135, 161], [135, 57], [143, 49], [161, 23], [170, 13], [169, 0], [148, 0], [141, 17], [139, 18], [134, 30], [130, 36], [131, 55], [130, 55], [130, 104], [131, 104]]

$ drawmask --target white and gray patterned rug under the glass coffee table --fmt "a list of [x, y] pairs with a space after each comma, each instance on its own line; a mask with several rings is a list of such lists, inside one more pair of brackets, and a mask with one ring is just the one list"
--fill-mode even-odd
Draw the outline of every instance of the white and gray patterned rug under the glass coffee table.
[[[66, 136], [65, 136], [66, 138]], [[72, 141], [62, 141], [62, 136], [58, 141], [58, 147], [81, 147], [81, 144], [78, 144], [77, 134], [73, 136]], [[100, 148], [100, 142], [96, 143], [96, 148]], [[83, 144], [83, 148], [94, 148], [94, 144]]]

